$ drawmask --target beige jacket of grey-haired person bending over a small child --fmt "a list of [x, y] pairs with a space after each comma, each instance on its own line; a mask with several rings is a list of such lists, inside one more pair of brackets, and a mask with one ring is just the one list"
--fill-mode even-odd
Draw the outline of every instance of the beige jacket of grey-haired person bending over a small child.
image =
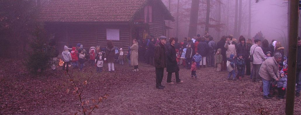
[[266, 59], [259, 68], [259, 75], [265, 80], [276, 79], [279, 75], [279, 65], [274, 57]]

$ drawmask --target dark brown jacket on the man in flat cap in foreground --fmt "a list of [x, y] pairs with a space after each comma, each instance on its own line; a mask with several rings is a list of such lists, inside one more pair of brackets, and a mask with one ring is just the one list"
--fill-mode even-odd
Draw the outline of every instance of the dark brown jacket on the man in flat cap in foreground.
[[161, 42], [155, 47], [154, 63], [155, 68], [166, 67], [166, 50]]

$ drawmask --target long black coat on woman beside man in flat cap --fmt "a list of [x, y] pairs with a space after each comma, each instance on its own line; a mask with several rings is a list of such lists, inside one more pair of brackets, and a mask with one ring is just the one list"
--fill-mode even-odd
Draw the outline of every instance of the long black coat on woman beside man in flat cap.
[[178, 72], [180, 68], [176, 59], [175, 47], [171, 44], [167, 48], [167, 62], [166, 62], [166, 71], [167, 72]]

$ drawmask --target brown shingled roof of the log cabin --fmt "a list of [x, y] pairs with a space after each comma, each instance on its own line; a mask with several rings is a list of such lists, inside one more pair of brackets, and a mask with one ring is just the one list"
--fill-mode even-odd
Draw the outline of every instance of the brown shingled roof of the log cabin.
[[[148, 0], [51, 0], [42, 6], [39, 20], [44, 22], [130, 21]], [[167, 12], [167, 20], [174, 20]], [[164, 5], [164, 6], [162, 6]]]

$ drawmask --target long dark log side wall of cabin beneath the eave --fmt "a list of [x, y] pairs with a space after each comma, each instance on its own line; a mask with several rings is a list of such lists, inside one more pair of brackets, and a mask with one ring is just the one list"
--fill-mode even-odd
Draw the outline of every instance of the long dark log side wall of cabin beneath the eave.
[[132, 44], [129, 39], [129, 25], [49, 24], [46, 26], [49, 34], [55, 34], [60, 52], [63, 51], [64, 45], [71, 48], [77, 43], [82, 44], [85, 49], [96, 46], [107, 47], [106, 29], [120, 29], [119, 41], [113, 41], [113, 44], [128, 51], [128, 47]]

